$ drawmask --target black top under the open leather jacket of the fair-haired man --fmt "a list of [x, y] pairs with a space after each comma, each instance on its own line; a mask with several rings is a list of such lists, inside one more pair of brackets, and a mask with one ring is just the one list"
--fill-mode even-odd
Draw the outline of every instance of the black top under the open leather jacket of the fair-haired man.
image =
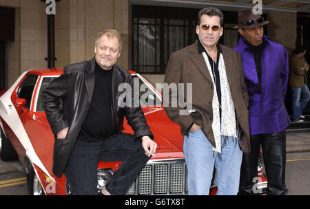
[[95, 65], [94, 93], [79, 133], [79, 139], [85, 141], [103, 140], [110, 136], [112, 129], [111, 83], [113, 68], [104, 70], [98, 63]]

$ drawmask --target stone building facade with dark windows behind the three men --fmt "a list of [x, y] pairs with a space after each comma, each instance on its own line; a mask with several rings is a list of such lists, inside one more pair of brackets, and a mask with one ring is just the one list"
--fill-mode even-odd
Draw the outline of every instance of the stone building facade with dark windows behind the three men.
[[[1, 34], [8, 34], [0, 35], [1, 89], [10, 86], [22, 72], [48, 66], [47, 8], [52, 2], [0, 0], [0, 10], [11, 11], [2, 12], [6, 16], [0, 21]], [[117, 64], [143, 74], [153, 84], [162, 83], [169, 55], [196, 41], [201, 8], [214, 6], [224, 12], [220, 42], [234, 47], [238, 43], [238, 32], [232, 29], [237, 11], [260, 3], [269, 21], [267, 36], [289, 52], [298, 42], [309, 49], [308, 0], [60, 0], [54, 8], [54, 66], [92, 58], [96, 33], [114, 28], [123, 39]]]

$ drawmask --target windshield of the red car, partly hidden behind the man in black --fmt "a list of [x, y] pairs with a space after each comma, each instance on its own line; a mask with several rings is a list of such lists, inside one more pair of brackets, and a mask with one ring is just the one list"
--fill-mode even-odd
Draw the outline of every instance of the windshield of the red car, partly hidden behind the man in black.
[[[134, 78], [134, 94], [138, 94], [141, 107], [161, 105], [161, 97], [156, 94], [152, 85], [145, 83], [139, 76], [133, 75]], [[42, 102], [42, 91], [48, 87], [50, 82], [56, 77], [43, 77], [39, 96], [37, 100], [36, 111], [44, 111], [43, 102]]]

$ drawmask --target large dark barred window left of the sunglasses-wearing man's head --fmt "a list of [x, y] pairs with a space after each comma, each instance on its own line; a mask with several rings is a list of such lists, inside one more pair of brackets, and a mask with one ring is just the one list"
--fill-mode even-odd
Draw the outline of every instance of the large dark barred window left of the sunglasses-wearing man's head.
[[172, 52], [196, 41], [198, 10], [132, 6], [132, 69], [165, 74]]

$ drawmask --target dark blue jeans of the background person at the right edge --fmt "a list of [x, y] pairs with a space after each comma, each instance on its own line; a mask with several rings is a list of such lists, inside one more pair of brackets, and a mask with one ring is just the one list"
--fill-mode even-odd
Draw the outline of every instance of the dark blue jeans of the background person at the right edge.
[[[306, 84], [303, 87], [291, 87], [292, 96], [292, 118], [298, 120], [302, 115], [302, 110], [307, 106], [310, 93]], [[301, 99], [300, 99], [301, 97]]]

